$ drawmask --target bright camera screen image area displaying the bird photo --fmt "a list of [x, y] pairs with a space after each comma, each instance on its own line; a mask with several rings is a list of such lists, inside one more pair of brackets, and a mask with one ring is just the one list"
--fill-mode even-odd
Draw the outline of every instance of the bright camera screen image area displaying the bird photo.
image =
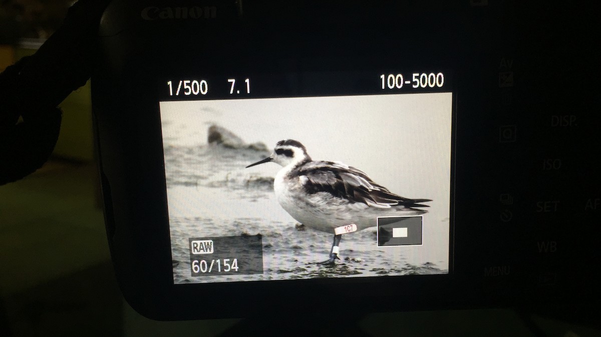
[[449, 273], [451, 90], [232, 82], [159, 104], [175, 284]]

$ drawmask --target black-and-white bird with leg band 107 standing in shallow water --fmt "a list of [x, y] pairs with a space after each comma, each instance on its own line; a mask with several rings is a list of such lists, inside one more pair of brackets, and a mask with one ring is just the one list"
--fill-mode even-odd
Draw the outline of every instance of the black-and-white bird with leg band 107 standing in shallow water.
[[394, 194], [340, 161], [314, 161], [296, 140], [279, 141], [269, 157], [246, 169], [269, 162], [282, 166], [273, 180], [280, 206], [305, 227], [334, 234], [329, 258], [319, 264], [340, 259], [342, 234], [335, 228], [354, 224], [359, 231], [374, 227], [378, 216], [420, 215], [427, 210], [416, 207], [430, 207], [422, 203], [432, 201]]

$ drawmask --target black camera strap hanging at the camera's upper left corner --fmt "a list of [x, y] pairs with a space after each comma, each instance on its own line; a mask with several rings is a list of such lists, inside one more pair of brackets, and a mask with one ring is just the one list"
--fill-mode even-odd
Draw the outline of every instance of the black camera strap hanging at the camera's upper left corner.
[[109, 2], [76, 2], [34, 55], [0, 74], [0, 185], [39, 169], [52, 154], [61, 126], [57, 106], [90, 78]]

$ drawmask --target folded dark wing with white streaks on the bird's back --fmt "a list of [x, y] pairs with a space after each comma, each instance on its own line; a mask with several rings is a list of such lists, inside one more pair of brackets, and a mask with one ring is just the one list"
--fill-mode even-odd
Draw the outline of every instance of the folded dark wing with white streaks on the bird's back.
[[310, 194], [328, 192], [334, 197], [347, 199], [352, 203], [365, 203], [371, 207], [429, 207], [419, 203], [432, 201], [401, 197], [373, 182], [363, 171], [343, 163], [312, 161], [299, 167], [295, 173], [301, 176], [305, 191]]

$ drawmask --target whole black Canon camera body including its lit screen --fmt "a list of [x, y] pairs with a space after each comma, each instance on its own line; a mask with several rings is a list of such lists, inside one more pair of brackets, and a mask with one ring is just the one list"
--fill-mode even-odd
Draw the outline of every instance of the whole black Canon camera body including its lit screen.
[[[599, 273], [583, 267], [598, 256], [599, 189], [585, 184], [596, 168], [570, 146], [594, 141], [588, 117], [542, 109], [551, 92], [532, 83], [549, 75], [531, 66], [547, 50], [520, 13], [486, 1], [112, 2], [93, 106], [127, 301], [183, 320], [597, 296]], [[245, 169], [300, 149], [290, 139], [322, 163], [316, 174], [348, 182], [350, 166], [378, 184], [343, 191], [380, 186], [415, 201], [389, 208], [419, 211], [370, 213], [366, 228], [304, 216], [355, 210], [285, 201], [292, 182], [307, 200], [338, 191], [311, 190], [315, 170]], [[350, 204], [371, 212], [365, 200]], [[333, 252], [334, 265], [316, 263]]]

